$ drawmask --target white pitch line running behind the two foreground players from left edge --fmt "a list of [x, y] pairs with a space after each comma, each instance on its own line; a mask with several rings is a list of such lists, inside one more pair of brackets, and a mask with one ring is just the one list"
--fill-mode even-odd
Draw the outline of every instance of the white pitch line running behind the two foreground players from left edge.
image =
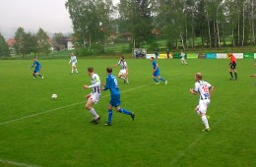
[[[140, 86], [137, 86], [137, 87], [133, 87], [133, 88], [130, 88], [130, 89], [123, 90], [123, 91], [121, 91], [121, 92], [131, 91], [131, 90], [134, 90], [134, 89], [136, 89], [136, 88], [141, 88], [141, 87], [144, 87], [144, 86], [148, 86], [148, 85], [150, 85], [150, 84], [153, 84], [153, 83], [148, 83], [148, 84], [140, 85]], [[109, 96], [109, 95], [104, 95], [104, 96], [102, 96], [101, 98], [108, 97], [108, 96]], [[40, 112], [40, 113], [28, 115], [28, 116], [25, 116], [25, 117], [22, 117], [22, 118], [13, 119], [13, 120], [10, 120], [10, 121], [6, 121], [6, 122], [3, 122], [3, 123], [0, 123], [0, 126], [5, 125], [5, 124], [10, 124], [10, 123], [18, 122], [18, 121], [21, 121], [21, 120], [25, 120], [25, 119], [27, 119], [27, 118], [36, 117], [36, 116], [38, 116], [38, 115], [47, 114], [47, 113], [49, 113], [49, 112], [56, 111], [56, 110], [60, 110], [60, 109], [67, 108], [67, 107], [71, 107], [71, 106], [74, 106], [74, 105], [82, 104], [82, 103], [84, 103], [84, 102], [85, 102], [85, 101], [81, 101], [81, 102], [77, 102], [77, 103], [65, 105], [65, 106], [62, 106], [62, 107], [50, 109], [50, 110], [47, 110], [47, 111], [43, 111], [43, 112]]]

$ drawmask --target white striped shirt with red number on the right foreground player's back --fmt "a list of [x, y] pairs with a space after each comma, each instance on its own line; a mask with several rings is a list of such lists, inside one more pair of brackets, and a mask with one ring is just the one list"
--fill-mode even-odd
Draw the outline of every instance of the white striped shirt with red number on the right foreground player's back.
[[209, 99], [209, 89], [211, 87], [212, 85], [210, 83], [199, 81], [195, 83], [194, 91], [198, 92], [200, 100]]

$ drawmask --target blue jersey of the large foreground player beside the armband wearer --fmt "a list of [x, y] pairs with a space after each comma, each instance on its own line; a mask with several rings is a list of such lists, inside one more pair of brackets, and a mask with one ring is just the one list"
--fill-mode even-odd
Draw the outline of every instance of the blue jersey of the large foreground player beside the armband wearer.
[[106, 77], [106, 83], [103, 90], [110, 90], [111, 96], [120, 95], [119, 87], [116, 78], [109, 74]]

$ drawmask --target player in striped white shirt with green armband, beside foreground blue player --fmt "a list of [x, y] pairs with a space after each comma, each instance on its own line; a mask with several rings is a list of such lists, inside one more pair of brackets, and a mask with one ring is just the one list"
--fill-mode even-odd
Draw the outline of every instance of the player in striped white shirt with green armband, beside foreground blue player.
[[93, 67], [88, 68], [88, 75], [91, 77], [91, 85], [84, 85], [84, 88], [92, 88], [93, 91], [86, 96], [88, 99], [86, 108], [92, 114], [94, 119], [91, 121], [93, 124], [97, 124], [100, 120], [100, 117], [96, 114], [96, 110], [92, 107], [93, 104], [96, 104], [100, 98], [100, 79], [95, 74], [95, 70]]

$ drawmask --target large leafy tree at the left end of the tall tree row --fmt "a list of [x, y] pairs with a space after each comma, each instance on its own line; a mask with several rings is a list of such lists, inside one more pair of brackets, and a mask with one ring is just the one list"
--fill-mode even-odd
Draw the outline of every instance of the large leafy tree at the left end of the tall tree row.
[[113, 11], [111, 0], [68, 0], [66, 8], [72, 20], [75, 37], [92, 48], [93, 44], [104, 46], [109, 35], [109, 23]]

